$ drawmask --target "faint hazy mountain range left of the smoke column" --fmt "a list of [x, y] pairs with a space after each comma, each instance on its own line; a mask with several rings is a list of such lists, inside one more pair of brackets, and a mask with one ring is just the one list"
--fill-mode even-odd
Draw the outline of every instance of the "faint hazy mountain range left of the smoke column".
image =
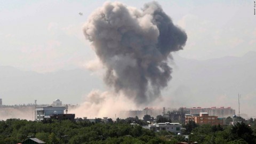
[[0, 66], [0, 98], [3, 105], [23, 103], [62, 103], [76, 105], [92, 89], [104, 89], [101, 78], [83, 69], [40, 74]]

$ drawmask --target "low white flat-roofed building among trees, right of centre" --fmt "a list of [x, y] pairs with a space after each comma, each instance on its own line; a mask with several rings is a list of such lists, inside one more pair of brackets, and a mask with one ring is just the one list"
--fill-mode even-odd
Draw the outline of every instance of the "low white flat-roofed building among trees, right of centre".
[[180, 123], [154, 123], [149, 124], [149, 129], [155, 131], [169, 131], [173, 133], [180, 133], [182, 125]]

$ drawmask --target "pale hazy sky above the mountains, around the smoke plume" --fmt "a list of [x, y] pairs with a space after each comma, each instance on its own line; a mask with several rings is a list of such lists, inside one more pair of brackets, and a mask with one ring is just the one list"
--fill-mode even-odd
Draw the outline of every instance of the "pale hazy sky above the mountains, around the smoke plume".
[[[0, 1], [0, 66], [39, 73], [83, 67], [95, 55], [82, 26], [104, 2]], [[141, 8], [149, 1], [121, 2]], [[158, 3], [188, 35], [181, 57], [206, 60], [256, 49], [253, 1]]]

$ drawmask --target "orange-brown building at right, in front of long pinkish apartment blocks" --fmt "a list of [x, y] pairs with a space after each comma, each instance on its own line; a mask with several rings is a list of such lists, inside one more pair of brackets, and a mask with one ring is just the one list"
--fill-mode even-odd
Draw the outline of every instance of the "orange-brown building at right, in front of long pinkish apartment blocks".
[[194, 121], [196, 124], [210, 124], [210, 125], [223, 125], [223, 118], [218, 118], [218, 116], [209, 116], [208, 113], [200, 113], [198, 115], [186, 115], [185, 123], [189, 121]]

